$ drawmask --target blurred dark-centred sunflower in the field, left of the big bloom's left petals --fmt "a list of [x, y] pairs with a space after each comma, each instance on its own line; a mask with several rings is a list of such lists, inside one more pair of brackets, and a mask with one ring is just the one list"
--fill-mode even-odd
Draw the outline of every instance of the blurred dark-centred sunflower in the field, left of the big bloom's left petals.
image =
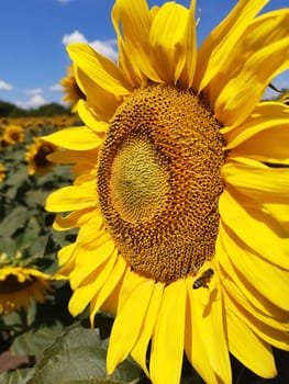
[[38, 137], [33, 138], [34, 144], [26, 146], [25, 160], [27, 161], [27, 172], [30, 176], [43, 176], [54, 166], [47, 156], [56, 151], [54, 144], [43, 142]]

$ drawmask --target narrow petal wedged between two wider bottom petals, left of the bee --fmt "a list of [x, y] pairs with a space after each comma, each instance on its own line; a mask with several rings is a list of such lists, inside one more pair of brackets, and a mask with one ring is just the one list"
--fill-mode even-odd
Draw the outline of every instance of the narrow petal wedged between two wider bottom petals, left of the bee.
[[136, 343], [131, 352], [135, 361], [142, 366], [145, 374], [149, 377], [149, 372], [147, 370], [147, 348], [149, 340], [152, 339], [153, 330], [158, 318], [159, 307], [162, 305], [164, 293], [164, 284], [156, 283], [154, 286], [154, 292], [149, 302], [149, 306], [145, 316], [143, 324], [143, 329], [138, 336]]

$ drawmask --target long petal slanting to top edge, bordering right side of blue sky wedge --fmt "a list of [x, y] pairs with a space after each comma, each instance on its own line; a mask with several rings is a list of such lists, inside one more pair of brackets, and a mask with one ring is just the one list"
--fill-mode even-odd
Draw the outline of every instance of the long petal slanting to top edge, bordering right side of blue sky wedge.
[[238, 1], [222, 23], [211, 32], [198, 52], [196, 79], [193, 81], [196, 91], [203, 90], [218, 72], [222, 72], [232, 55], [232, 47], [244, 34], [251, 20], [268, 1]]

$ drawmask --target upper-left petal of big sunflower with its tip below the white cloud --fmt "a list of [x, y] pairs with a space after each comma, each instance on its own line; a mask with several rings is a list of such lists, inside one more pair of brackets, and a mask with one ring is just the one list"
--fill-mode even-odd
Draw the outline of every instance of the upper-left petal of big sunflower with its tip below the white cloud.
[[120, 68], [88, 44], [74, 43], [68, 45], [67, 50], [74, 64], [96, 84], [112, 94], [125, 95], [131, 93], [132, 87]]

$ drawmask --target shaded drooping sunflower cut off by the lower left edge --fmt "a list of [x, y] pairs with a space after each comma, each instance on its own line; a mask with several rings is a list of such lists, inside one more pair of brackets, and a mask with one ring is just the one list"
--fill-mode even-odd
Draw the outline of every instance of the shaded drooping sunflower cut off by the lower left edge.
[[0, 268], [0, 315], [26, 308], [30, 300], [43, 303], [52, 278], [34, 268]]

